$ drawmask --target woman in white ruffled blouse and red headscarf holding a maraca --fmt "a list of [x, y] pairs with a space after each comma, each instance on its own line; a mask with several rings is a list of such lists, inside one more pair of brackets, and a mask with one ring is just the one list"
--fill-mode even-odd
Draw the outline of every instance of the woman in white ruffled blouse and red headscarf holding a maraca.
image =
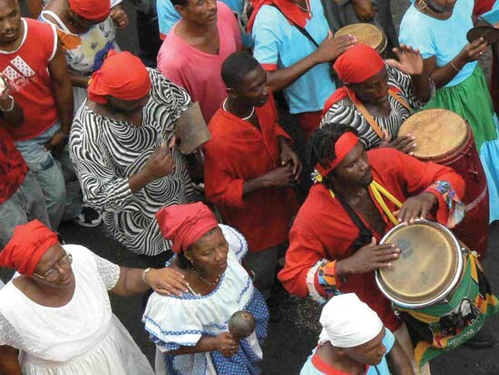
[[[201, 202], [166, 207], [157, 219], [176, 252], [167, 266], [181, 272], [190, 293], [149, 299], [143, 322], [156, 343], [156, 374], [257, 373], [269, 311], [240, 265], [246, 241]], [[240, 310], [254, 315], [256, 330], [238, 340], [227, 330]]]

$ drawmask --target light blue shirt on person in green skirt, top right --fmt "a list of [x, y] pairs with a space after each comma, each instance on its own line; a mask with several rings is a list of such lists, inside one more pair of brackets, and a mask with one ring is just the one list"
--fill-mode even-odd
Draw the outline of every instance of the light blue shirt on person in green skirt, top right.
[[[424, 15], [415, 5], [411, 5], [402, 18], [398, 40], [401, 44], [418, 48], [424, 59], [435, 56], [436, 65], [444, 66], [468, 43], [466, 33], [473, 27], [473, 6], [472, 0], [457, 0], [453, 14], [446, 20], [439, 20]], [[476, 64], [475, 61], [465, 64], [445, 87], [465, 81], [473, 74]]]

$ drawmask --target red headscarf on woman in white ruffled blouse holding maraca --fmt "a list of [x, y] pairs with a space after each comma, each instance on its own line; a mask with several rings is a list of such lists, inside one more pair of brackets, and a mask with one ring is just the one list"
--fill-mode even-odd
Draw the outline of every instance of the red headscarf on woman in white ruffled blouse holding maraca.
[[219, 223], [210, 209], [201, 202], [165, 207], [156, 213], [163, 237], [171, 240], [171, 250], [186, 251]]

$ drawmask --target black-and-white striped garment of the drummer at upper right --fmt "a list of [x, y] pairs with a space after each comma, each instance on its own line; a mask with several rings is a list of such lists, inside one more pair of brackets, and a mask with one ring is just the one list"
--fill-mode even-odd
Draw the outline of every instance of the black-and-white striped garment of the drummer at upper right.
[[[388, 74], [388, 84], [400, 89], [400, 96], [406, 101], [407, 104], [415, 109], [421, 109], [427, 102], [421, 102], [416, 98], [416, 95], [411, 89], [411, 77], [408, 74], [402, 73], [398, 69], [389, 64], [386, 65], [386, 72]], [[432, 94], [429, 99], [435, 95], [435, 84], [430, 81]], [[428, 99], [428, 100], [429, 100]], [[392, 96], [388, 96], [390, 103], [390, 114], [387, 117], [373, 116], [377, 124], [382, 130], [386, 130], [390, 134], [390, 139], [394, 140], [398, 134], [398, 129], [411, 115], [407, 108], [398, 103]], [[329, 108], [328, 112], [324, 115], [320, 126], [327, 123], [344, 123], [357, 129], [359, 138], [366, 146], [366, 149], [376, 147], [381, 143], [381, 138], [371, 128], [369, 123], [360, 112], [357, 111], [356, 106], [350, 101], [349, 98], [344, 98], [335, 103]]]

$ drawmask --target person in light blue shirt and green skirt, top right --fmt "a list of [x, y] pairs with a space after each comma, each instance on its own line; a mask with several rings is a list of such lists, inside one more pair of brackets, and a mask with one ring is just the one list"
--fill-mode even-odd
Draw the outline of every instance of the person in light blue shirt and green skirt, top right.
[[425, 73], [436, 85], [425, 109], [451, 110], [470, 124], [489, 190], [490, 221], [499, 219], [499, 133], [484, 72], [477, 60], [488, 44], [468, 43], [473, 27], [473, 0], [417, 0], [400, 24], [400, 41], [419, 48]]

